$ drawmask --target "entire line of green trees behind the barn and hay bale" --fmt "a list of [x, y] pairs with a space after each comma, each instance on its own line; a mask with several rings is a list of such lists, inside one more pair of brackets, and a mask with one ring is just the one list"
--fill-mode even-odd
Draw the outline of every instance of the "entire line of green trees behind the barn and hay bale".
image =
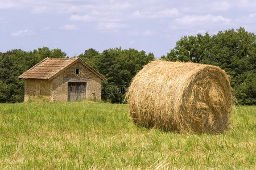
[[[233, 95], [238, 103], [253, 105], [256, 104], [255, 40], [255, 34], [244, 28], [220, 31], [212, 36], [209, 33], [184, 36], [160, 59], [220, 66], [231, 76]], [[46, 57], [64, 58], [67, 54], [47, 47], [30, 52], [22, 49], [0, 52], [0, 103], [22, 102], [24, 80], [18, 76]], [[153, 53], [131, 48], [110, 48], [102, 53], [90, 48], [77, 57], [108, 79], [102, 82], [102, 100], [112, 103], [123, 102], [131, 79], [155, 59]]]

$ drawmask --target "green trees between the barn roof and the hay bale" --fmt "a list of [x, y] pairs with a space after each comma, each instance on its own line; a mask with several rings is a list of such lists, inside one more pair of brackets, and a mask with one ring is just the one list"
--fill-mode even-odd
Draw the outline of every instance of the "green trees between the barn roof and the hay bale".
[[89, 49], [79, 57], [108, 79], [107, 82], [102, 82], [102, 99], [112, 103], [123, 102], [131, 79], [155, 58], [152, 53], [146, 54], [143, 50], [139, 52], [131, 48], [113, 48], [102, 53]]

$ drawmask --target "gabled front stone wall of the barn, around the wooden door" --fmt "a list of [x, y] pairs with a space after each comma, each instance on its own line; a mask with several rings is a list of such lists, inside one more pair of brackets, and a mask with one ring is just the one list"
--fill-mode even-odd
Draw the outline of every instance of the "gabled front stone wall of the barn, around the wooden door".
[[[75, 69], [80, 69], [80, 73], [76, 74]], [[64, 78], [88, 79], [86, 82], [86, 99], [101, 100], [101, 78], [77, 62], [51, 80], [52, 101], [68, 100], [68, 82], [64, 82]]]

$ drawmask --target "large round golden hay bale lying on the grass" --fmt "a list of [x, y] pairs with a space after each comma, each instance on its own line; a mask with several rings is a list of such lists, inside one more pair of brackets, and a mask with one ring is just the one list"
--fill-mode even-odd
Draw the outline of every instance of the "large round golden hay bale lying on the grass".
[[217, 66], [155, 60], [126, 94], [135, 124], [166, 131], [218, 133], [232, 111], [229, 76]]

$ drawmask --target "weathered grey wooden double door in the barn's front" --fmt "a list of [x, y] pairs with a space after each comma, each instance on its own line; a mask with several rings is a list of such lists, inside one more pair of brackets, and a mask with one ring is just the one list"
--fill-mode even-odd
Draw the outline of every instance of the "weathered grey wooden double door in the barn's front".
[[85, 99], [86, 83], [68, 82], [68, 101]]

